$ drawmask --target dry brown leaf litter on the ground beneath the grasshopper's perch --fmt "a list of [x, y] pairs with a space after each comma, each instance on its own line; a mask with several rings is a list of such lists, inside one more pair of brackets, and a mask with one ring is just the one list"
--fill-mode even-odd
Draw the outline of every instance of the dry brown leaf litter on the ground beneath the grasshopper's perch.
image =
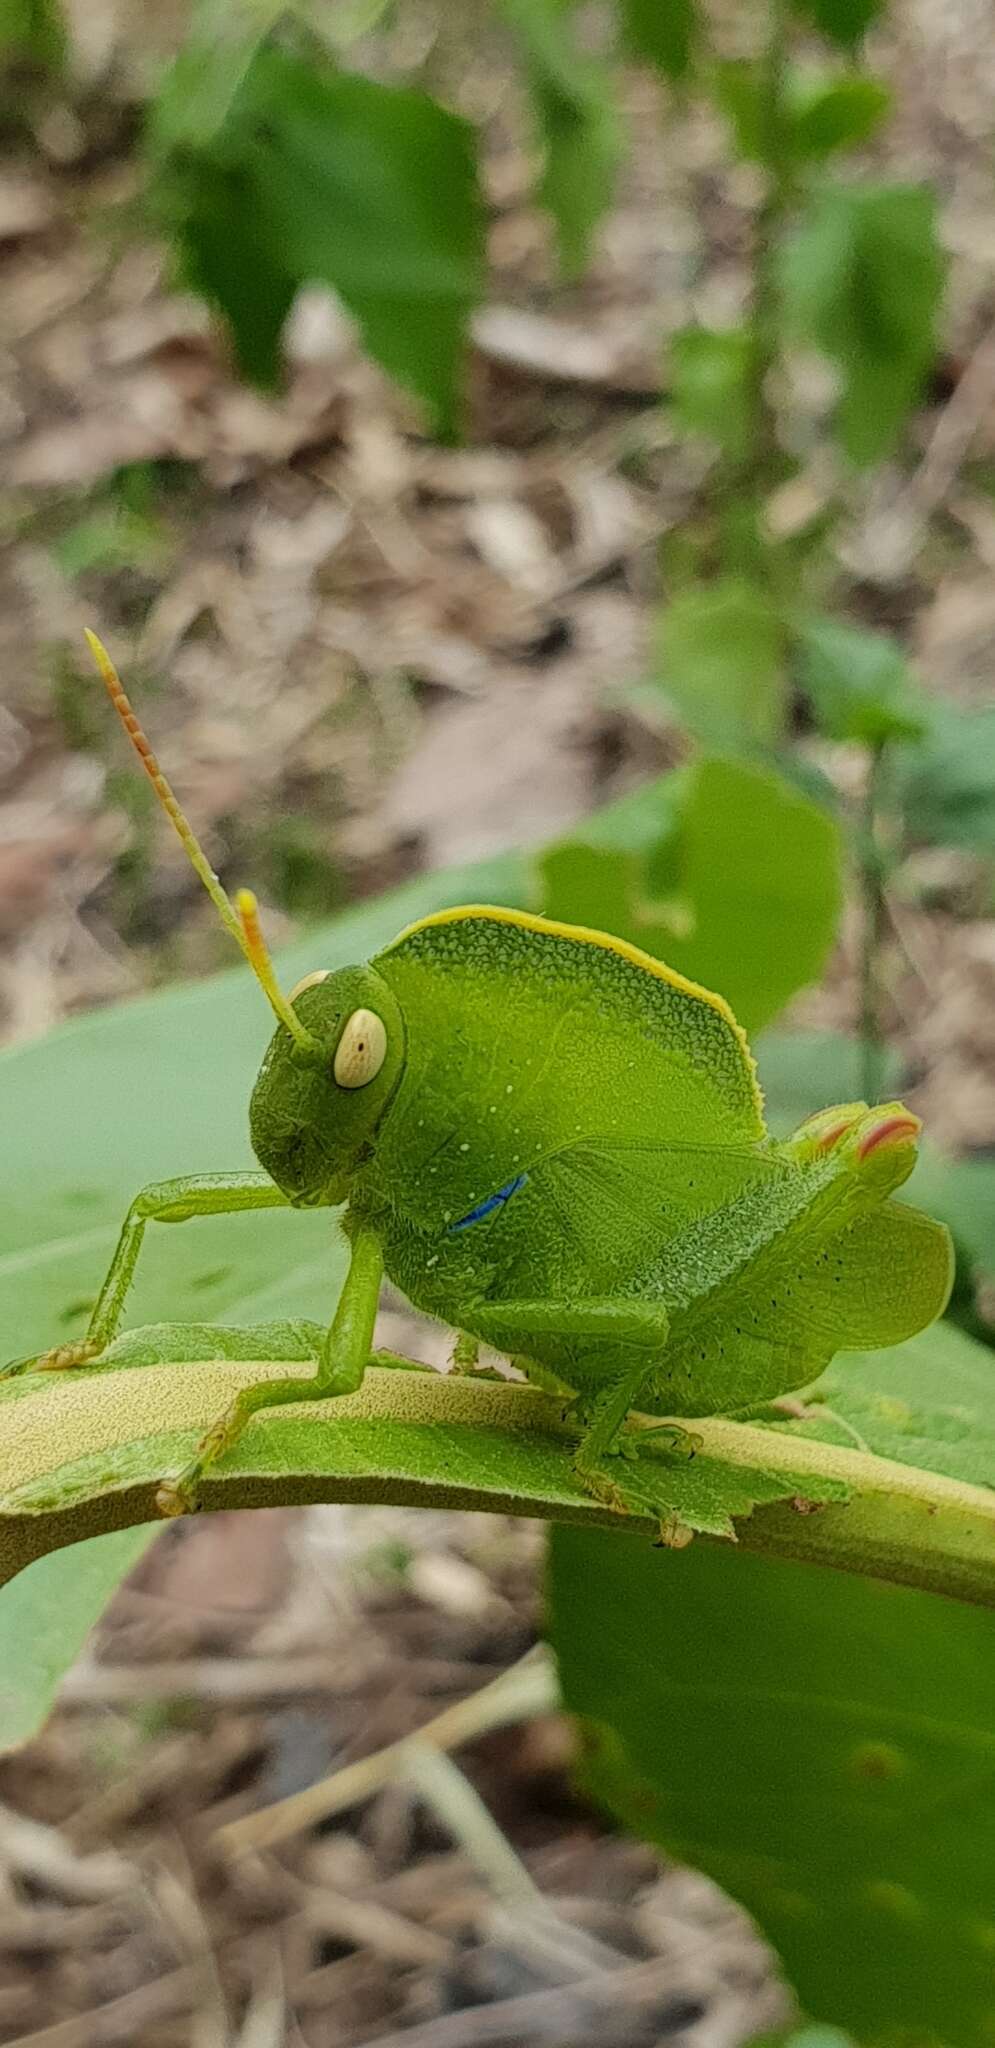
[[219, 1851], [221, 1823], [412, 1735], [510, 1663], [532, 1632], [536, 1546], [491, 1518], [350, 1509], [166, 1536], [47, 1735], [0, 1763], [4, 2038], [227, 2044], [266, 2007], [272, 2040], [309, 2048], [407, 2030], [412, 2048], [731, 2048], [774, 2021], [745, 1921], [571, 1800], [559, 1720], [459, 1759], [538, 1896], [495, 1888], [397, 1780], [328, 1831]]

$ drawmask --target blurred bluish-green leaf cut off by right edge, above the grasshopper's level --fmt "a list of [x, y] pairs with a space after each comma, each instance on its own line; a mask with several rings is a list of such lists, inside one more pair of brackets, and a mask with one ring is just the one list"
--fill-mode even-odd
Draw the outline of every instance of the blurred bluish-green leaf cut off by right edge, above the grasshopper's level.
[[903, 762], [899, 788], [913, 842], [995, 854], [995, 711], [932, 705], [929, 735]]

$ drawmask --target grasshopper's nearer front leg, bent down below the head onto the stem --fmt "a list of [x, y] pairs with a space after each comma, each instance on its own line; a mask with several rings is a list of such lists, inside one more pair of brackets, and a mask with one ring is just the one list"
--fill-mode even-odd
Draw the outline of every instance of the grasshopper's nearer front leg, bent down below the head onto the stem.
[[260, 1380], [256, 1386], [244, 1386], [201, 1440], [190, 1464], [176, 1479], [164, 1479], [156, 1495], [160, 1513], [182, 1516], [197, 1507], [205, 1473], [237, 1444], [246, 1423], [260, 1409], [283, 1407], [289, 1401], [330, 1401], [334, 1395], [356, 1393], [371, 1356], [381, 1280], [381, 1241], [373, 1231], [356, 1231], [346, 1284], [321, 1346], [317, 1372], [301, 1380]]

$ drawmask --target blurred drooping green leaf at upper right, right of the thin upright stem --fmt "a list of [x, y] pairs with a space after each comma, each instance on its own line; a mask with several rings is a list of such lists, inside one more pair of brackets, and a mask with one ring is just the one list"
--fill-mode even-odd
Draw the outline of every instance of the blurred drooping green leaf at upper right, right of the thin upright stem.
[[839, 369], [837, 434], [874, 463], [921, 395], [944, 291], [936, 195], [915, 184], [839, 184], [788, 240], [784, 307], [794, 336]]

